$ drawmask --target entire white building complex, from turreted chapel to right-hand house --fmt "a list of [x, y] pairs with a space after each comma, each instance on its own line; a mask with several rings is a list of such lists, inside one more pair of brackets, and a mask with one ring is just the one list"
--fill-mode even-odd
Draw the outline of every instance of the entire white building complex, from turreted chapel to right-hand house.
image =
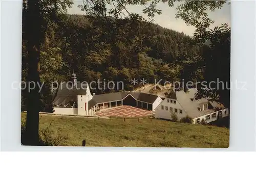
[[178, 121], [189, 116], [193, 123], [206, 123], [228, 116], [228, 109], [207, 98], [195, 99], [197, 89], [181, 90], [165, 99], [141, 92], [115, 92], [92, 95], [89, 87], [77, 83], [73, 73], [73, 83], [61, 83], [55, 92], [53, 110], [55, 114], [94, 116], [97, 111], [118, 106], [133, 106], [155, 111], [155, 118], [172, 120], [176, 114]]

